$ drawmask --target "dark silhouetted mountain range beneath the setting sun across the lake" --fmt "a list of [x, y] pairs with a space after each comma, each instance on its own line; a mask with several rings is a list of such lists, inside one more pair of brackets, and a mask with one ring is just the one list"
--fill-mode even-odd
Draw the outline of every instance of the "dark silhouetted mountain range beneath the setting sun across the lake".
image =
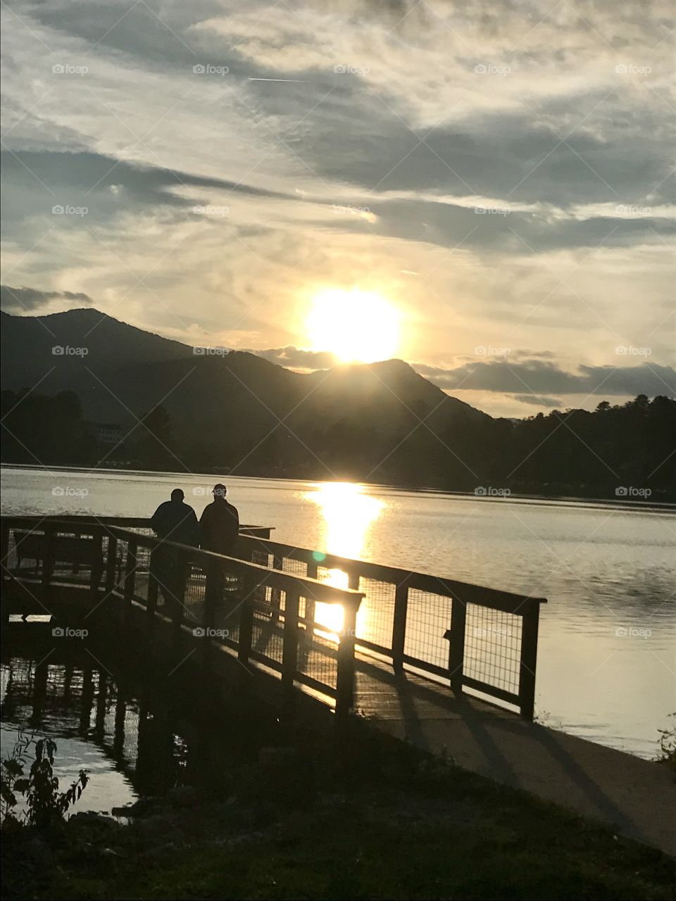
[[441, 486], [461, 475], [453, 436], [492, 422], [399, 359], [299, 374], [246, 351], [200, 353], [91, 308], [2, 314], [2, 326], [4, 391], [74, 392], [86, 420], [133, 430], [128, 458], [147, 433], [139, 419], [160, 405], [168, 469]]

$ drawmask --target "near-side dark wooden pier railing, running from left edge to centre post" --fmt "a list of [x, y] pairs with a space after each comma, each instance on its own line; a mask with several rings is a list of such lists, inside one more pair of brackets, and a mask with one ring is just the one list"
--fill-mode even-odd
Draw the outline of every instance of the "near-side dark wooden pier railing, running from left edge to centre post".
[[[3, 517], [2, 525], [4, 578], [32, 589], [45, 609], [56, 587], [88, 588], [92, 608], [105, 601], [123, 622], [142, 611], [149, 632], [163, 622], [186, 633], [207, 669], [220, 648], [244, 667], [277, 674], [289, 703], [303, 686], [333, 703], [336, 714], [352, 708], [360, 592], [162, 542], [142, 526], [133, 531], [110, 520]], [[340, 629], [315, 622], [317, 605], [342, 611]]]

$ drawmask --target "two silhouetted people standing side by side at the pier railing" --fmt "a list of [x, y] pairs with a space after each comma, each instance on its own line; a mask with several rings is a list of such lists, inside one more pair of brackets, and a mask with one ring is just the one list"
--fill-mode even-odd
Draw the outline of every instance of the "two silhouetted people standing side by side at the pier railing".
[[[237, 507], [230, 504], [224, 485], [215, 485], [214, 500], [204, 509], [197, 521], [193, 508], [184, 503], [181, 488], [174, 488], [171, 500], [165, 501], [151, 517], [151, 529], [162, 542], [178, 542], [227, 555], [233, 550], [240, 532]], [[185, 553], [167, 545], [158, 545], [151, 552], [151, 573], [157, 579], [165, 600], [182, 604], [190, 562]]]

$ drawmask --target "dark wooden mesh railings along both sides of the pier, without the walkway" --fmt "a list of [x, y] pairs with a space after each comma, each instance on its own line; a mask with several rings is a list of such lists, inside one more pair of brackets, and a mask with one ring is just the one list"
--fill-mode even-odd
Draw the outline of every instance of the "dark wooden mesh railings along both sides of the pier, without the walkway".
[[[533, 718], [543, 598], [297, 548], [269, 533], [243, 526], [224, 557], [160, 542], [146, 519], [3, 517], [5, 611], [59, 621], [58, 598], [86, 596], [86, 618], [105, 610], [139, 641], [170, 625], [207, 669], [219, 655], [236, 657], [279, 680], [287, 699], [306, 692], [339, 716], [377, 712], [364, 674], [410, 672]], [[160, 585], [158, 549], [185, 573], [179, 585]]]

